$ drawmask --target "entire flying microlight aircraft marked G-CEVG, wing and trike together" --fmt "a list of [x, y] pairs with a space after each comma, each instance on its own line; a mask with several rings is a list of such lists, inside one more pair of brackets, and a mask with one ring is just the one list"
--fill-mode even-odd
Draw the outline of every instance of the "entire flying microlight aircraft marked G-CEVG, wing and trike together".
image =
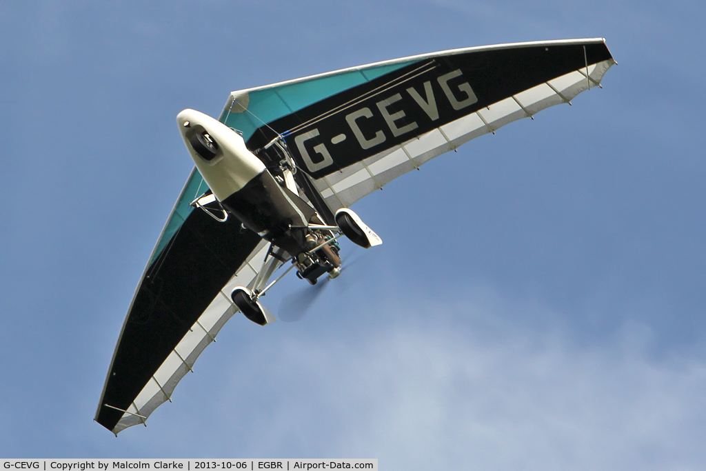
[[313, 285], [339, 275], [339, 237], [381, 244], [353, 203], [570, 104], [613, 64], [602, 38], [469, 47], [232, 92], [219, 119], [179, 113], [196, 167], [128, 309], [95, 420], [116, 435], [146, 424], [237, 311], [275, 321], [260, 299], [289, 270]]

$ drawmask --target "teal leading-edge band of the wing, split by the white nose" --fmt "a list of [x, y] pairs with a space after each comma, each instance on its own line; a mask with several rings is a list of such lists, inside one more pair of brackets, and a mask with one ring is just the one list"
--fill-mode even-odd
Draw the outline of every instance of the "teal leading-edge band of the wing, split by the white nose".
[[[238, 106], [237, 98], [236, 100], [229, 99], [229, 106], [224, 109], [220, 116], [220, 121], [240, 131], [245, 141], [248, 141], [256, 129], [265, 123], [285, 117], [313, 103], [361, 85], [361, 83], [372, 81], [385, 75], [385, 73], [395, 71], [414, 62], [416, 61], [361, 66], [352, 71], [331, 72], [323, 74], [323, 76], [312, 76], [311, 78], [302, 78], [298, 81], [285, 82], [280, 85], [268, 85], [246, 90], [240, 96], [247, 97], [248, 102], [244, 106], [248, 109], [248, 112], [244, 113], [244, 107]], [[234, 92], [231, 96], [238, 97], [239, 93]], [[239, 109], [241, 112], [238, 112]], [[172, 240], [174, 234], [179, 232], [179, 228], [193, 211], [189, 203], [207, 190], [208, 185], [203, 181], [203, 177], [201, 177], [196, 167], [194, 167], [184, 185], [184, 189], [181, 190], [172, 214], [169, 215], [167, 224], [164, 225], [162, 235], [160, 235], [157, 246], [152, 252], [148, 266], [151, 266], [159, 258], [162, 251], [169, 245], [169, 241]]]

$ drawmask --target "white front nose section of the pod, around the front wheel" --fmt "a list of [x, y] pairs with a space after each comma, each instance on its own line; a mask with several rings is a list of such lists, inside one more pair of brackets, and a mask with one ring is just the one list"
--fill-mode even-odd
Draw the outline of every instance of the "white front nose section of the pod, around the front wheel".
[[177, 115], [179, 132], [208, 187], [224, 201], [265, 170], [245, 147], [242, 136], [220, 121], [194, 109]]

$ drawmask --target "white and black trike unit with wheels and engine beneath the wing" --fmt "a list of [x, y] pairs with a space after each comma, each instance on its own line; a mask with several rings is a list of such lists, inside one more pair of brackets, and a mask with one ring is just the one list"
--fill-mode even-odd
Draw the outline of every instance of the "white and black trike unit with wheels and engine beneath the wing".
[[[354, 244], [369, 249], [382, 240], [349, 208], [333, 214], [335, 225], [299, 196], [295, 177], [297, 165], [280, 136], [263, 148], [270, 163], [246, 148], [242, 136], [220, 121], [193, 109], [177, 116], [177, 124], [186, 148], [210, 191], [191, 204], [203, 209], [218, 222], [236, 217], [240, 231], [252, 231], [270, 242], [263, 268], [251, 287], [237, 286], [231, 298], [251, 321], [264, 326], [275, 317], [258, 301], [292, 268], [297, 277], [316, 285], [328, 273], [336, 278], [341, 271], [340, 246], [337, 239], [345, 235]], [[303, 193], [303, 191], [302, 191]], [[316, 204], [318, 198], [311, 198]], [[321, 213], [325, 213], [323, 207]], [[261, 280], [271, 275], [277, 263], [291, 262], [279, 278], [262, 289]], [[255, 288], [253, 288], [255, 287]]]

